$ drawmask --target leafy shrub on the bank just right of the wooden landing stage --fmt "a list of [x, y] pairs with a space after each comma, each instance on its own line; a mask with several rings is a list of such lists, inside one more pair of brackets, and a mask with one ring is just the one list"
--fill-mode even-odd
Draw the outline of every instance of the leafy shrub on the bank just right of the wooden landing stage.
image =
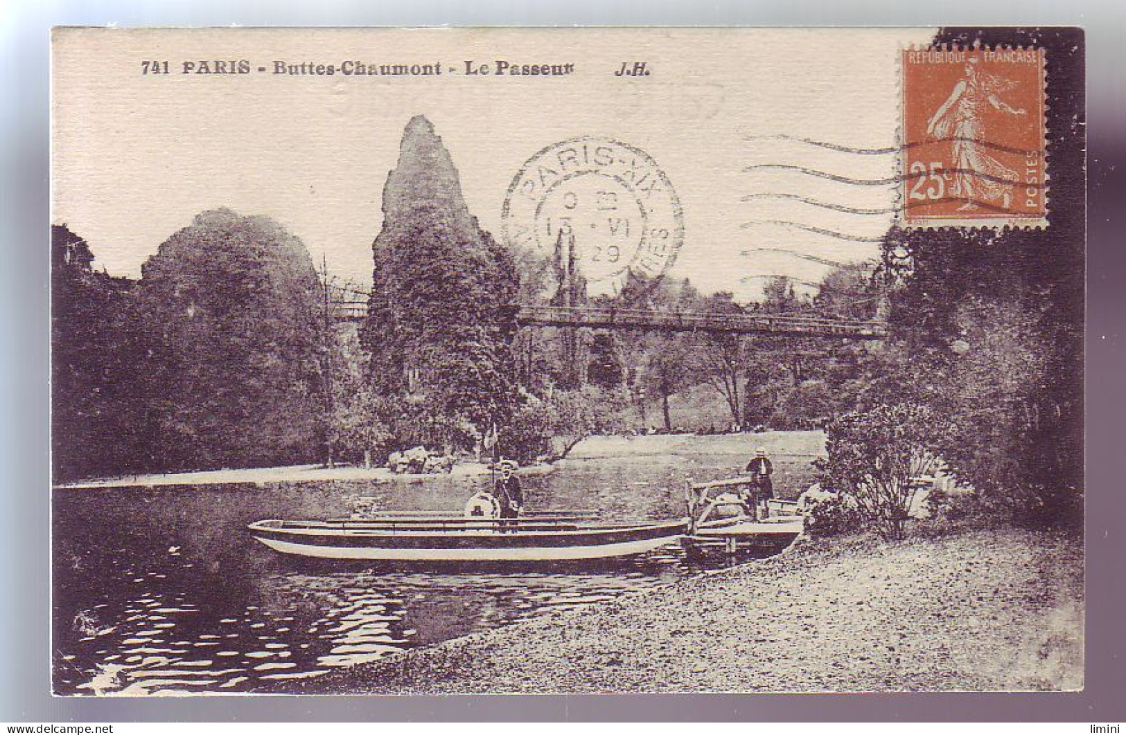
[[902, 538], [915, 478], [933, 472], [947, 423], [926, 406], [897, 403], [849, 412], [825, 427], [823, 490], [856, 501], [859, 517], [884, 538]]

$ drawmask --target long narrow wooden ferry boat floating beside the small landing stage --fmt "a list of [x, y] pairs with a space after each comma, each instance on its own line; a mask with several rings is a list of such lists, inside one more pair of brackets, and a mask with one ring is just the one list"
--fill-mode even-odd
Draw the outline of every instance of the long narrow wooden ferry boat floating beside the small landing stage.
[[687, 519], [592, 523], [586, 515], [519, 519], [429, 514], [365, 519], [259, 520], [248, 526], [270, 548], [300, 556], [392, 562], [549, 562], [632, 556], [677, 541]]

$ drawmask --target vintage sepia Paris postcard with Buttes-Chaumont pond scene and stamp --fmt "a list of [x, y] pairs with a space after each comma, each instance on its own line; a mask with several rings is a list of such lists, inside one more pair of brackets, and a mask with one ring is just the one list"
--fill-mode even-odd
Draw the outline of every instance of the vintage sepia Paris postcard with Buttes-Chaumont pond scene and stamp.
[[1082, 689], [1075, 28], [56, 28], [59, 696]]

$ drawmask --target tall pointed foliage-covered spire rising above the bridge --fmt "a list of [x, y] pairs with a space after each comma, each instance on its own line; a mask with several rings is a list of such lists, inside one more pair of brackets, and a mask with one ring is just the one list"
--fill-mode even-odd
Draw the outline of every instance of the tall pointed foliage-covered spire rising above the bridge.
[[406, 126], [383, 211], [360, 330], [368, 381], [393, 411], [410, 409], [411, 430], [422, 434], [414, 438], [470, 448], [507, 424], [517, 403], [516, 262], [470, 215], [426, 118]]

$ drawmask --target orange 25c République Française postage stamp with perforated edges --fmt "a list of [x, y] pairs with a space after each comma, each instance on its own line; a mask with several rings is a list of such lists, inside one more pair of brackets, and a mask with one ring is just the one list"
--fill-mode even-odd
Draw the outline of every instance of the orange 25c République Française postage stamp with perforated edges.
[[1045, 225], [1044, 51], [908, 48], [902, 57], [904, 225]]

